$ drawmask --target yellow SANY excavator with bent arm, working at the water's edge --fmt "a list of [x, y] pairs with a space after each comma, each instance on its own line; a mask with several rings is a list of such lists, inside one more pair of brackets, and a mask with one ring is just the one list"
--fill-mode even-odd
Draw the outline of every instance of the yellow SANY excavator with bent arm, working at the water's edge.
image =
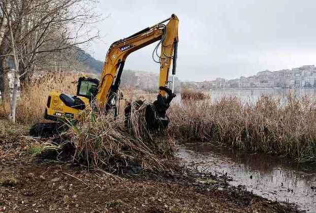
[[[166, 22], [168, 23], [166, 24]], [[120, 98], [120, 78], [125, 60], [132, 52], [159, 41], [152, 53], [153, 60], [160, 64], [159, 94], [157, 99], [147, 106], [146, 120], [150, 127], [166, 127], [169, 123], [166, 111], [171, 100], [175, 97], [174, 77], [178, 48], [178, 23], [177, 16], [172, 14], [164, 21], [114, 42], [107, 52], [101, 79], [80, 77], [76, 82], [78, 83], [76, 95], [50, 92], [45, 109], [45, 119], [56, 121], [68, 118], [77, 120], [81, 112], [91, 105], [91, 101], [96, 103], [96, 109], [103, 109], [105, 113], [114, 109], [116, 116]], [[160, 46], [161, 53], [159, 55], [157, 51]], [[172, 81], [168, 81], [171, 62]], [[30, 133], [40, 135], [40, 132], [47, 130], [47, 128], [48, 126], [45, 127], [45, 125], [41, 125], [40, 128], [35, 125], [31, 128]]]

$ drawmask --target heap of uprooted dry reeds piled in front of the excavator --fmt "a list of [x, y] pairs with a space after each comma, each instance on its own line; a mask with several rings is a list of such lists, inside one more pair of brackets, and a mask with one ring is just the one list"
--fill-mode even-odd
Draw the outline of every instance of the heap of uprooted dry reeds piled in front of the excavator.
[[146, 129], [143, 109], [140, 106], [132, 111], [129, 129], [123, 118], [91, 112], [84, 120], [70, 125], [64, 136], [74, 147], [73, 161], [114, 173], [131, 166], [149, 170], [171, 168], [174, 142], [165, 136], [152, 136]]

